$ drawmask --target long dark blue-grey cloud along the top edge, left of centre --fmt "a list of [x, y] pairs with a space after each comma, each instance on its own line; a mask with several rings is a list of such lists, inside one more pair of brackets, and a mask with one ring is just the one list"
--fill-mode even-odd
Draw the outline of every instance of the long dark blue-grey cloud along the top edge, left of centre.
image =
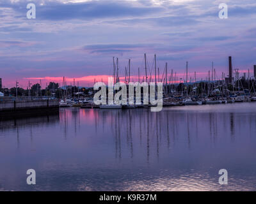
[[[1, 4], [0, 4], [1, 5]], [[3, 4], [20, 13], [26, 11], [16, 4]], [[24, 5], [24, 4], [23, 4]], [[39, 20], [93, 20], [99, 18], [118, 18], [143, 16], [163, 10], [157, 6], [140, 6], [132, 1], [88, 1], [84, 3], [60, 3], [46, 1], [44, 4], [36, 4], [36, 18]]]

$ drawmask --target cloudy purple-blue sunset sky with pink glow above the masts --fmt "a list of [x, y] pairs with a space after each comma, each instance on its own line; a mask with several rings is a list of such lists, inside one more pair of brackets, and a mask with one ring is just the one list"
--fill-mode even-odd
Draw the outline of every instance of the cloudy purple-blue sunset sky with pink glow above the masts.
[[[28, 19], [28, 3], [36, 18]], [[219, 4], [228, 5], [228, 18], [219, 18]], [[234, 69], [253, 75], [256, 64], [255, 0], [1, 0], [0, 78], [4, 87], [28, 87], [41, 80], [91, 86], [119, 75], [131, 59], [131, 78], [157, 68], [163, 75], [177, 72], [205, 79], [214, 62], [216, 78], [228, 75], [228, 56]]]

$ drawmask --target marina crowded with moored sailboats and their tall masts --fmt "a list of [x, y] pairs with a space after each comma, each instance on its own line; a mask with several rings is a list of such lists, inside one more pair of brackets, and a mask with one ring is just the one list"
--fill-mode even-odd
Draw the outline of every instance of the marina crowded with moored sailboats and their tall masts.
[[[77, 94], [72, 94], [72, 87], [69, 92], [67, 89], [61, 91], [62, 99], [60, 101], [60, 106], [81, 106], [83, 108], [104, 108], [104, 109], [116, 109], [116, 108], [148, 108], [152, 105], [143, 104], [144, 92], [148, 92], [150, 95], [150, 85], [148, 83], [154, 83], [157, 88], [157, 84], [163, 84], [163, 106], [180, 106], [180, 105], [205, 105], [205, 104], [220, 104], [220, 103], [242, 103], [242, 102], [252, 102], [256, 101], [256, 66], [253, 67], [254, 77], [250, 77], [250, 70], [248, 69], [248, 76], [244, 73], [243, 77], [239, 77], [239, 69], [235, 69], [236, 76], [233, 77], [233, 66], [232, 57], [228, 57], [228, 77], [225, 77], [225, 73], [222, 72], [221, 78], [216, 77], [216, 70], [214, 69], [212, 62], [212, 71], [209, 71], [208, 77], [203, 80], [198, 80], [196, 77], [196, 71], [193, 78], [190, 77], [188, 72], [188, 62], [186, 62], [186, 75], [184, 78], [178, 79], [176, 73], [171, 71], [168, 73], [168, 64], [165, 64], [163, 74], [159, 73], [159, 68], [157, 69], [157, 58], [154, 55], [154, 66], [148, 68], [147, 66], [147, 55], [144, 55], [145, 60], [145, 76], [143, 76], [142, 81], [140, 76], [140, 68], [138, 69], [138, 82], [134, 85], [132, 83], [131, 87], [131, 59], [129, 59], [129, 66], [125, 68], [125, 80], [122, 82], [124, 89], [127, 93], [127, 102], [121, 104], [115, 104], [116, 101], [111, 99], [111, 103], [108, 105], [101, 104], [95, 105], [92, 96], [90, 98], [77, 98], [72, 97], [72, 95], [77, 96]], [[117, 91], [114, 91], [116, 84], [120, 84], [120, 72], [119, 72], [118, 58], [113, 57], [113, 77], [108, 84], [108, 94], [109, 96], [114, 95]], [[148, 69], [150, 70], [150, 76], [148, 77]], [[154, 70], [155, 75], [152, 76], [152, 70]], [[160, 77], [162, 76], [162, 77]], [[141, 83], [141, 84], [140, 84]], [[146, 83], [146, 85], [145, 85]], [[65, 82], [65, 77], [63, 77], [63, 86], [67, 84]], [[102, 82], [102, 84], [104, 84]], [[106, 88], [106, 87], [105, 87]], [[134, 90], [133, 90], [134, 89]], [[141, 90], [142, 89], [142, 90]], [[155, 90], [156, 90], [155, 89]], [[105, 89], [104, 89], [105, 90]], [[130, 94], [130, 91], [132, 93]], [[139, 98], [136, 92], [139, 91]], [[142, 91], [142, 92], [141, 92]], [[95, 94], [95, 90], [93, 90]], [[93, 95], [92, 94], [92, 95]], [[106, 92], [105, 92], [105, 95]], [[69, 97], [68, 97], [69, 96]], [[156, 93], [154, 93], [156, 97]], [[151, 96], [150, 96], [151, 97]], [[131, 103], [130, 99], [134, 101]], [[136, 101], [135, 99], [136, 98]], [[138, 98], [138, 101], [137, 101]], [[110, 99], [109, 99], [110, 100]], [[150, 98], [147, 101], [151, 101]], [[106, 101], [108, 102], [108, 101]], [[114, 103], [115, 102], [115, 103]]]

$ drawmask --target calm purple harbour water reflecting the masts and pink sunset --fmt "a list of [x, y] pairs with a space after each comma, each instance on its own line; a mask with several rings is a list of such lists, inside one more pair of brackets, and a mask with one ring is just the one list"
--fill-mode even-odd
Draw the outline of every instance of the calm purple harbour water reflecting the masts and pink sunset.
[[[255, 191], [255, 147], [256, 103], [63, 108], [0, 122], [0, 190]], [[218, 183], [223, 168], [227, 186]]]

